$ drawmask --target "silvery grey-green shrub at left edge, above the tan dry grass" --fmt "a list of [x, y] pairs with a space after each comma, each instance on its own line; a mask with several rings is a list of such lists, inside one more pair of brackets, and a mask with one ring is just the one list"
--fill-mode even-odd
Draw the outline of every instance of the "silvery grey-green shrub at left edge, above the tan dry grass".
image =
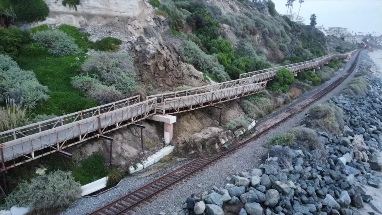
[[10, 98], [34, 108], [36, 103], [49, 98], [48, 88], [37, 81], [36, 75], [20, 69], [9, 56], [0, 55], [0, 77], [0, 101]]

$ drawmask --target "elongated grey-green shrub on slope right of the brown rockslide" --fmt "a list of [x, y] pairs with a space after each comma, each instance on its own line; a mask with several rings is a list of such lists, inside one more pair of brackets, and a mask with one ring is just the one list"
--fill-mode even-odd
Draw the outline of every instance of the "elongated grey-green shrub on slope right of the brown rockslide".
[[179, 48], [180, 55], [189, 64], [193, 64], [199, 70], [215, 75], [220, 82], [230, 80], [224, 67], [219, 64], [217, 56], [207, 55], [192, 41], [184, 40], [183, 45]]

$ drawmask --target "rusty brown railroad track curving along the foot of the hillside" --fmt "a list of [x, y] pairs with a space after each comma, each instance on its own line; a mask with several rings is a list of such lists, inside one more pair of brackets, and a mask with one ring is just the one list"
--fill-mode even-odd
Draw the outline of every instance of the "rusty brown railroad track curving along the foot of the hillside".
[[293, 108], [288, 109], [287, 111], [279, 114], [278, 116], [263, 122], [261, 125], [257, 126], [256, 132], [250, 137], [244, 138], [240, 140], [236, 146], [222, 151], [219, 154], [215, 154], [212, 156], [201, 156], [188, 164], [183, 165], [176, 170], [152, 181], [151, 183], [142, 186], [141, 188], [136, 189], [135, 191], [127, 194], [126, 196], [117, 199], [116, 201], [111, 202], [110, 204], [105, 205], [104, 207], [95, 210], [94, 212], [89, 213], [90, 215], [115, 215], [128, 213], [129, 211], [136, 211], [134, 208], [138, 207], [140, 204], [147, 204], [147, 202], [152, 202], [150, 199], [156, 199], [156, 196], [167, 189], [172, 190], [171, 186], [176, 185], [177, 183], [186, 180], [197, 172], [203, 170], [209, 165], [215, 164], [219, 159], [225, 157], [227, 155], [233, 154], [237, 151], [240, 151], [249, 141], [256, 140], [265, 134], [267, 134], [270, 130], [273, 130], [275, 127], [282, 125], [286, 120], [291, 119], [296, 114], [302, 112], [306, 109], [310, 104], [318, 99], [322, 98], [329, 91], [333, 90], [340, 83], [342, 83], [351, 72], [356, 69], [356, 65], [358, 63], [359, 53], [356, 54], [356, 58], [351, 64], [350, 68], [337, 80], [333, 81], [330, 85], [320, 90], [316, 94], [312, 95], [308, 99], [294, 106]]

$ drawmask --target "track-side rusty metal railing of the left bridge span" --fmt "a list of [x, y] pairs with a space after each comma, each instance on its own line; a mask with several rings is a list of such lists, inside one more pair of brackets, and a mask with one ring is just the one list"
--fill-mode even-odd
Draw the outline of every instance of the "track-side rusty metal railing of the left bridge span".
[[[138, 122], [155, 113], [156, 98], [153, 98], [8, 141], [0, 145], [1, 170], [4, 171], [46, 154], [60, 151], [74, 144], [98, 137], [99, 135]], [[49, 148], [50, 151], [42, 151], [44, 148]], [[37, 151], [39, 155], [35, 156]], [[21, 156], [27, 159], [22, 162], [15, 162], [13, 165], [5, 165], [6, 161]]]

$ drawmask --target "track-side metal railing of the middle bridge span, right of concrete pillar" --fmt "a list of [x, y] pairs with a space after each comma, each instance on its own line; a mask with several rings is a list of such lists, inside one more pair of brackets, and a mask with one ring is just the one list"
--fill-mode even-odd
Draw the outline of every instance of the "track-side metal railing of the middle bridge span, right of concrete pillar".
[[164, 115], [199, 109], [243, 96], [248, 96], [254, 93], [259, 93], [265, 90], [266, 85], [267, 82], [252, 83], [239, 87], [201, 93], [198, 95], [167, 98], [165, 99], [162, 107], [157, 106], [157, 111], [162, 112]]

